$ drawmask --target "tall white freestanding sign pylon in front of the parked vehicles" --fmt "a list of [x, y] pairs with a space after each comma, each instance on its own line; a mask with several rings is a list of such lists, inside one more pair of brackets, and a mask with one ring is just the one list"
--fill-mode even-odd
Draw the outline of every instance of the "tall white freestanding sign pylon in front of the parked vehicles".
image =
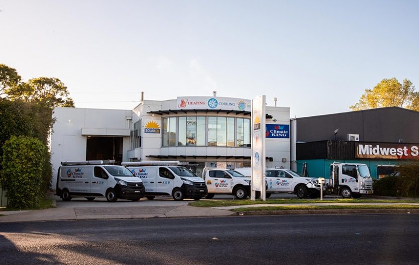
[[265, 95], [259, 95], [252, 100], [252, 174], [250, 199], [256, 200], [256, 191], [266, 200], [265, 186]]

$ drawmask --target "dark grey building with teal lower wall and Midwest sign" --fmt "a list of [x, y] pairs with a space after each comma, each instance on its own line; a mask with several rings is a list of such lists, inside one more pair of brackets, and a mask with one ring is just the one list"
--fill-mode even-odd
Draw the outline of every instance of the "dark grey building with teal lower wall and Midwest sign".
[[[295, 128], [295, 130], [294, 130]], [[291, 120], [292, 168], [329, 177], [330, 164], [363, 163], [374, 178], [419, 159], [419, 112], [386, 107]], [[293, 159], [294, 158], [294, 159]]]

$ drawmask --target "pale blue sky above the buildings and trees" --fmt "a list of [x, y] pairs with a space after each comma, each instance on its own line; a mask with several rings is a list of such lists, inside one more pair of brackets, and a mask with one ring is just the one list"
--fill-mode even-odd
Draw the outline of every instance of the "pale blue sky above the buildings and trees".
[[[218, 96], [349, 111], [384, 78], [419, 88], [418, 0], [0, 0], [0, 63], [76, 107]], [[417, 90], [418, 90], [417, 88]]]

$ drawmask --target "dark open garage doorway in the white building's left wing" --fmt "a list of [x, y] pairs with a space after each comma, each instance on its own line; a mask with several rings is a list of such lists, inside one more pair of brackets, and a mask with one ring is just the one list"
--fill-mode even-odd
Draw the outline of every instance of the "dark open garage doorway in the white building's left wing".
[[122, 162], [123, 137], [88, 136], [86, 160], [115, 160], [116, 165]]

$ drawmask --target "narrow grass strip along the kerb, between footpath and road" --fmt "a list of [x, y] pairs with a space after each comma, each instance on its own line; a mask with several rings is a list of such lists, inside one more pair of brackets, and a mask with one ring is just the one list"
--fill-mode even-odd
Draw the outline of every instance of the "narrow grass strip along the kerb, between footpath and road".
[[419, 205], [291, 205], [291, 206], [264, 206], [243, 207], [231, 209], [233, 212], [246, 211], [282, 211], [282, 210], [342, 210], [342, 209], [419, 209]]

